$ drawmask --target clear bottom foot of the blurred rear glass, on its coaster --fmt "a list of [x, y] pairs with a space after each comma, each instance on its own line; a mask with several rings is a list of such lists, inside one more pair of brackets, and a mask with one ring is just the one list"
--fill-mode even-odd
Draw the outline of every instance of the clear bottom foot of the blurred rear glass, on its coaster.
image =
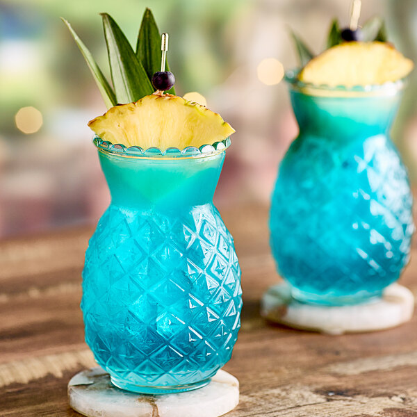
[[307, 293], [298, 288], [291, 287], [292, 297], [304, 304], [318, 304], [321, 306], [350, 306], [354, 304], [364, 304], [381, 300], [384, 288], [375, 293], [360, 291], [354, 295], [321, 295]]

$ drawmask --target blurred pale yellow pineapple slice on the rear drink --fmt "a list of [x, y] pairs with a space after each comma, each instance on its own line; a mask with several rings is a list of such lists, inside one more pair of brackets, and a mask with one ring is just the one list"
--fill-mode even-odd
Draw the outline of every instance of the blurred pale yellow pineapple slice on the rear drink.
[[345, 42], [306, 64], [298, 78], [315, 85], [380, 85], [407, 76], [414, 64], [386, 42]]

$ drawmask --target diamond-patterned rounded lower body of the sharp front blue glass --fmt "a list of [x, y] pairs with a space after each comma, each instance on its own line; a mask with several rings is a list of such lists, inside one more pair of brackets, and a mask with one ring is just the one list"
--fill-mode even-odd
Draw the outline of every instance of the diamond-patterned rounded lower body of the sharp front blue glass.
[[117, 380], [176, 386], [211, 377], [240, 327], [240, 268], [212, 205], [188, 213], [110, 206], [83, 270], [85, 338]]

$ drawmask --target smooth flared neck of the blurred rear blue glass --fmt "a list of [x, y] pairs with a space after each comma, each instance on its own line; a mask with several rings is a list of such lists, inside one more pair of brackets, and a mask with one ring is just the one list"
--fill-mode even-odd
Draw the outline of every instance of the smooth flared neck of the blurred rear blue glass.
[[300, 133], [321, 138], [359, 139], [387, 134], [398, 111], [401, 92], [391, 95], [307, 95], [291, 87], [291, 103]]

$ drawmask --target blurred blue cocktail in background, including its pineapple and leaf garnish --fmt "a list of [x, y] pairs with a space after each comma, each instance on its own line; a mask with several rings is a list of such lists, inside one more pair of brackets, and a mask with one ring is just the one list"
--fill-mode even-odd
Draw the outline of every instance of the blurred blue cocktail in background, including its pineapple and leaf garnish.
[[295, 37], [304, 66], [286, 75], [300, 132], [279, 165], [270, 243], [291, 294], [307, 303], [380, 297], [409, 261], [412, 196], [389, 132], [413, 63], [384, 26], [362, 41], [360, 3], [350, 28], [333, 22], [322, 54]]

